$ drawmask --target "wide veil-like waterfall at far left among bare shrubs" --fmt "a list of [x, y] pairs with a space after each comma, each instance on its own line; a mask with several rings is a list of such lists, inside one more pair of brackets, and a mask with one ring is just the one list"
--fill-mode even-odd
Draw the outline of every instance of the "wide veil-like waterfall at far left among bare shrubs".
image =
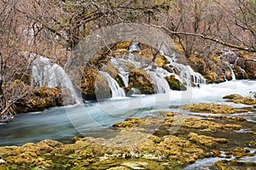
[[32, 60], [32, 86], [35, 84], [38, 87], [43, 85], [49, 88], [66, 87], [75, 102], [77, 104], [81, 103], [81, 99], [76, 94], [72, 81], [60, 65], [51, 65], [49, 59], [37, 54], [30, 54], [30, 59]]

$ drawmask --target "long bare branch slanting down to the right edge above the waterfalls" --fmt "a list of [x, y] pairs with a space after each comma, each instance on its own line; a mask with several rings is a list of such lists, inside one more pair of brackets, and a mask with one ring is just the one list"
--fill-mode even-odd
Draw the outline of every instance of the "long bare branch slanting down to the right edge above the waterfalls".
[[209, 40], [209, 41], [212, 41], [212, 42], [217, 42], [217, 43], [222, 44], [222, 45], [224, 45], [226, 47], [229, 47], [229, 48], [236, 48], [236, 49], [239, 49], [239, 50], [256, 53], [256, 48], [240, 47], [240, 46], [233, 45], [233, 44], [230, 44], [230, 43], [227, 43], [227, 42], [223, 42], [221, 40], [218, 40], [218, 39], [215, 39], [215, 38], [212, 38], [212, 37], [208, 37], [208, 36], [205, 36], [205, 35], [202, 35], [202, 34], [183, 32], [183, 31], [171, 31], [168, 28], [166, 28], [166, 26], [155, 26], [155, 25], [147, 25], [147, 26], [153, 26], [153, 27], [156, 27], [156, 28], [160, 28], [160, 29], [163, 29], [164, 31], [166, 31], [168, 33], [175, 34], [175, 35], [195, 36], [195, 37], [206, 39], [206, 40]]

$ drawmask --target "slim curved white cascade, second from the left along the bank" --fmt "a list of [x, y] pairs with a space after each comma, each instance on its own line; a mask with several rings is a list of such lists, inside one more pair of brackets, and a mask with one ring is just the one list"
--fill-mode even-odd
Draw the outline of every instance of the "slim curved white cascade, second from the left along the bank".
[[108, 86], [112, 92], [112, 98], [125, 97], [125, 90], [119, 87], [119, 83], [111, 77], [108, 72], [100, 71], [108, 81]]

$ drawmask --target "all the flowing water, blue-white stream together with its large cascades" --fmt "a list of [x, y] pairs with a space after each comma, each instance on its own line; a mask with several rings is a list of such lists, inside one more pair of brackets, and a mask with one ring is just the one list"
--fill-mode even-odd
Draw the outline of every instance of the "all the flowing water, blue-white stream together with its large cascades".
[[[131, 45], [130, 52], [139, 50], [137, 43]], [[175, 69], [177, 71], [175, 72], [176, 77], [187, 84], [188, 89], [186, 91], [173, 91], [169, 88], [165, 77], [174, 73], [160, 67], [156, 67], [152, 71], [151, 65], [139, 62], [136, 56], [130, 53], [126, 58], [124, 56], [124, 58], [111, 59], [113, 65], [119, 67], [119, 77], [123, 80], [125, 87], [129, 84], [129, 69], [125, 67], [125, 62], [128, 61], [137, 68], [143, 68], [148, 72], [157, 87], [158, 94], [140, 95], [137, 93], [133, 97], [125, 97], [125, 91], [119, 87], [118, 82], [108, 72], [101, 71], [108, 81], [112, 98], [97, 103], [87, 102], [86, 104], [79, 103], [80, 99], [76, 97], [72, 82], [60, 65], [49, 65], [49, 59], [44, 57], [34, 59], [32, 62], [32, 81], [38, 86], [46, 84], [49, 87], [56, 87], [61, 83], [62, 86], [69, 88], [78, 105], [55, 107], [42, 112], [15, 116], [12, 122], [0, 124], [0, 145], [20, 145], [28, 142], [38, 142], [42, 139], [56, 139], [65, 143], [71, 142], [72, 137], [77, 135], [110, 138], [117, 133], [112, 128], [113, 123], [122, 122], [128, 116], [144, 117], [154, 116], [157, 111], [179, 111], [183, 116], [201, 118], [195, 113], [179, 109], [180, 106], [189, 103], [213, 102], [242, 108], [247, 107], [247, 105], [228, 103], [222, 97], [227, 94], [248, 96], [256, 92], [256, 81], [236, 81], [235, 74], [232, 74], [232, 77], [234, 76], [233, 81], [206, 84], [204, 77], [193, 71], [189, 65], [177, 64], [175, 54], [172, 57], [165, 56], [165, 58], [169, 61], [166, 66]], [[193, 88], [192, 84], [200, 86]], [[235, 114], [234, 116], [237, 115], [244, 116], [247, 122], [251, 123], [250, 129], [241, 129], [241, 131], [236, 132], [237, 134], [242, 134], [249, 130], [256, 131], [256, 111], [252, 110], [247, 113]], [[220, 159], [206, 158], [198, 160], [184, 169], [211, 167], [213, 162]], [[243, 159], [247, 161], [252, 157]]]

